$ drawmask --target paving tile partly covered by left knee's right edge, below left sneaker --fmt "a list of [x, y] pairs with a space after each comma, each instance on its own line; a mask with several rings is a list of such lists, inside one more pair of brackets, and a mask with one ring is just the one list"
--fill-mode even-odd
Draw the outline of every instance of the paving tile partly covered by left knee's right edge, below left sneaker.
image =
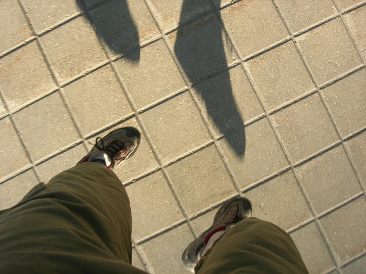
[[184, 218], [160, 171], [126, 186], [126, 191], [130, 198], [135, 240]]

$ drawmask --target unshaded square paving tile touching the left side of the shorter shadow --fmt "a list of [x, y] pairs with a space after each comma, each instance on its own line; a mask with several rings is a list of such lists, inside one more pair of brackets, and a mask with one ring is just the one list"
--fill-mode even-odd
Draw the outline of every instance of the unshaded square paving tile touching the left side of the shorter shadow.
[[84, 16], [62, 25], [40, 40], [60, 82], [106, 59], [92, 26]]

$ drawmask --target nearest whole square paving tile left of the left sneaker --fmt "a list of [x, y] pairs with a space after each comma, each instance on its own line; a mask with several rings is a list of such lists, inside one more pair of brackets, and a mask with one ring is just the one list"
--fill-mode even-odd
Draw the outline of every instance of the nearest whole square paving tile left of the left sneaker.
[[26, 107], [13, 117], [35, 161], [79, 138], [58, 93]]

